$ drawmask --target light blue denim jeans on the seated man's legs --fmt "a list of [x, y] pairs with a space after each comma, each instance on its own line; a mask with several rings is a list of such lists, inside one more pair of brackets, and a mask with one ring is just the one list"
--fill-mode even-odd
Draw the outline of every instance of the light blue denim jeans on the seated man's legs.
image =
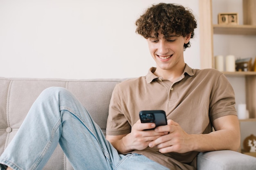
[[168, 170], [143, 155], [119, 154], [78, 99], [59, 87], [36, 99], [0, 163], [41, 170], [58, 143], [75, 170]]

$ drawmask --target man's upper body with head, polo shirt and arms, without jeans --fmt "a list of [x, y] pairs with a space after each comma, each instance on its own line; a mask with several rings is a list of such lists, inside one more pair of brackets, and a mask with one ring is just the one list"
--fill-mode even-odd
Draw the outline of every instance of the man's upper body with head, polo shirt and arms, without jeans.
[[[191, 69], [184, 62], [183, 51], [196, 28], [193, 14], [182, 6], [158, 4], [136, 25], [157, 66], [146, 77], [116, 86], [108, 141], [119, 153], [145, 155], [174, 169], [195, 166], [198, 152], [237, 150], [240, 131], [231, 85], [216, 70]], [[165, 110], [168, 126], [145, 131], [155, 125], [141, 124], [140, 110]]]

